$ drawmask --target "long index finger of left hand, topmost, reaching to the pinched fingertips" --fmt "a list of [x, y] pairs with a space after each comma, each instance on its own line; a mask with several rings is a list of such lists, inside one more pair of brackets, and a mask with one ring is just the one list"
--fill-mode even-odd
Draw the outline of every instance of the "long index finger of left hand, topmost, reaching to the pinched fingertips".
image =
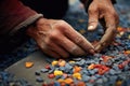
[[65, 28], [63, 28], [63, 33], [64, 35], [66, 35], [66, 38], [81, 47], [86, 53], [94, 54], [93, 45], [83, 35], [77, 32], [72, 26], [66, 26]]

